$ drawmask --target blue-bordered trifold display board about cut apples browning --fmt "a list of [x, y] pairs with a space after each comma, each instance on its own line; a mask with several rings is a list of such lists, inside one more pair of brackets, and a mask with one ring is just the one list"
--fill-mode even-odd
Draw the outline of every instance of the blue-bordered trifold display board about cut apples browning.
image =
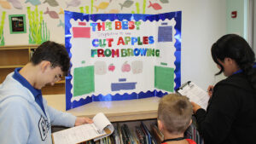
[[181, 84], [182, 12], [82, 14], [65, 11], [71, 58], [66, 109], [174, 92]]

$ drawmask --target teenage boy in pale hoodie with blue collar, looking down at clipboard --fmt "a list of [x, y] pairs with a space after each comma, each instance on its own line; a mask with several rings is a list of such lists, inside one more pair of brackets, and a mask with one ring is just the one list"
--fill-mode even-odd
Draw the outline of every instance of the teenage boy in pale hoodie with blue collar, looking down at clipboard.
[[54, 85], [69, 69], [64, 46], [44, 42], [23, 68], [16, 68], [0, 84], [0, 143], [51, 144], [51, 125], [66, 127], [92, 123], [47, 105], [41, 89]]

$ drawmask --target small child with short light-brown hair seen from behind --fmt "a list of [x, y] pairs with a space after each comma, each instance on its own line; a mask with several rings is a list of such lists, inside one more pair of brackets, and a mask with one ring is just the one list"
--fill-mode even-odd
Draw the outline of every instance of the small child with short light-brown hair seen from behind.
[[157, 123], [164, 135], [162, 144], [195, 144], [184, 138], [184, 132], [192, 123], [192, 105], [183, 95], [170, 94], [161, 98]]

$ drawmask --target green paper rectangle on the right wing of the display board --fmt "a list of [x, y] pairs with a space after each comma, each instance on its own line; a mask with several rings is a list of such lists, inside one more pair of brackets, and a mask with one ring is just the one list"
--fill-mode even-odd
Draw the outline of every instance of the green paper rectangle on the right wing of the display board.
[[174, 69], [171, 67], [154, 66], [154, 87], [173, 92]]

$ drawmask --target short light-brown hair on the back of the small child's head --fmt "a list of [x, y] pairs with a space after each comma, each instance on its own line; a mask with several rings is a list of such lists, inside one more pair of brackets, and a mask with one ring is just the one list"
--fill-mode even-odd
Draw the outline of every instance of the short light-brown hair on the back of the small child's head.
[[182, 134], [189, 127], [192, 112], [192, 105], [186, 96], [169, 94], [160, 99], [158, 120], [169, 133]]

